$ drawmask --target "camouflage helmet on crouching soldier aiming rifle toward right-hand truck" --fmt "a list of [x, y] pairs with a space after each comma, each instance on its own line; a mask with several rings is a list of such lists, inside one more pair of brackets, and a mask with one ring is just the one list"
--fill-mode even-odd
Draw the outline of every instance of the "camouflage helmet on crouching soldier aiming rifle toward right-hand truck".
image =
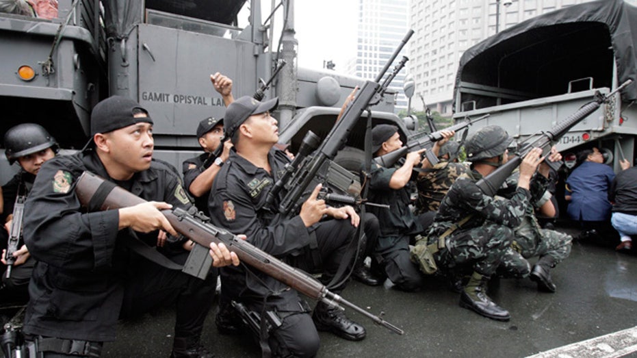
[[513, 140], [502, 127], [489, 125], [473, 133], [465, 142], [465, 151], [469, 162], [497, 157], [506, 151]]

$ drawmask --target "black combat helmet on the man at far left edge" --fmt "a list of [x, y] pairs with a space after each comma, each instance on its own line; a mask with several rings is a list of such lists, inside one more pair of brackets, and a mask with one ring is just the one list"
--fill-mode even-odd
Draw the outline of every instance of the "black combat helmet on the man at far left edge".
[[47, 129], [35, 123], [16, 125], [4, 135], [5, 155], [9, 159], [9, 164], [13, 164], [19, 157], [38, 153], [51, 146], [57, 153], [55, 138], [47, 132]]

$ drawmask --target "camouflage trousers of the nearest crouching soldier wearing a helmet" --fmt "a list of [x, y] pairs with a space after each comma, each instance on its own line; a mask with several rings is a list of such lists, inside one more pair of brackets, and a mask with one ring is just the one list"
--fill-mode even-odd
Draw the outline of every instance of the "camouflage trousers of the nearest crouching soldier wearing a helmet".
[[502, 263], [514, 238], [510, 227], [485, 222], [480, 227], [452, 233], [446, 240], [447, 250], [437, 255], [436, 261], [447, 269], [471, 265], [479, 274], [490, 276]]

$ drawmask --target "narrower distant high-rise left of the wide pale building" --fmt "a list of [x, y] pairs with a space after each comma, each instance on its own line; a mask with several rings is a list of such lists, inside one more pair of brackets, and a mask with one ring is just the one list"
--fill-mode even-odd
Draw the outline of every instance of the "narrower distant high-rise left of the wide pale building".
[[[348, 73], [365, 79], [376, 78], [407, 32], [407, 4], [408, 0], [359, 0], [356, 58], [348, 64]], [[402, 55], [407, 55], [407, 51], [408, 46], [403, 49]], [[397, 57], [394, 63], [398, 63], [400, 58]], [[398, 110], [407, 107], [402, 90], [405, 73], [406, 70], [400, 71], [389, 86], [398, 91]]]

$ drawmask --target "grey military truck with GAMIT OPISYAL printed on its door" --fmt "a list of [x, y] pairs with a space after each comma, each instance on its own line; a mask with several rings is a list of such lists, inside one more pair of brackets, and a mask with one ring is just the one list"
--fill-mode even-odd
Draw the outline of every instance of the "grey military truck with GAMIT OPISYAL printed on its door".
[[[209, 75], [231, 77], [235, 97], [251, 95], [259, 79], [271, 77], [278, 60], [287, 64], [265, 94], [280, 99], [274, 116], [282, 140], [295, 151], [310, 129], [324, 138], [338, 108], [363, 80], [298, 68], [294, 1], [282, 4], [265, 22], [269, 12], [257, 0], [59, 0], [57, 18], [51, 20], [0, 14], [0, 138], [13, 125], [34, 122], [48, 129], [62, 149], [81, 149], [92, 107], [120, 94], [149, 110], [155, 157], [181, 168], [183, 159], [199, 151], [198, 121], [224, 114]], [[238, 16], [249, 16], [246, 27], [237, 26]], [[281, 34], [274, 33], [278, 16], [283, 17]], [[273, 38], [279, 39], [276, 49]], [[373, 107], [373, 120], [406, 132], [393, 114], [394, 96], [386, 92]], [[354, 167], [351, 158], [363, 153], [357, 134], [363, 130], [354, 132], [337, 157], [353, 170], [360, 161]], [[5, 182], [16, 167], [1, 155], [0, 170]]]

